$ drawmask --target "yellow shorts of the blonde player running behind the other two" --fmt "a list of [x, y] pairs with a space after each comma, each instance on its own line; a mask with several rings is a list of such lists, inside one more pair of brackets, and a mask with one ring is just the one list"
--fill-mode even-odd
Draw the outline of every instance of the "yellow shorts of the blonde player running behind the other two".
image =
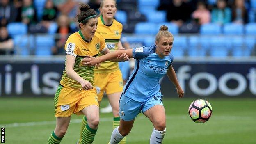
[[120, 70], [112, 73], [94, 73], [94, 84], [97, 89], [98, 101], [106, 94], [113, 94], [123, 91], [123, 78]]

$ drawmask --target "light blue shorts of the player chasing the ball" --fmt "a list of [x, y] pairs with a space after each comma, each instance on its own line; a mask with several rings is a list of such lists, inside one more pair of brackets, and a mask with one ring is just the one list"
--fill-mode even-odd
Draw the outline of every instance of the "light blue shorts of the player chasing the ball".
[[156, 95], [145, 102], [138, 102], [122, 94], [119, 101], [119, 116], [124, 121], [131, 121], [142, 112], [146, 112], [155, 105], [163, 105], [162, 95]]

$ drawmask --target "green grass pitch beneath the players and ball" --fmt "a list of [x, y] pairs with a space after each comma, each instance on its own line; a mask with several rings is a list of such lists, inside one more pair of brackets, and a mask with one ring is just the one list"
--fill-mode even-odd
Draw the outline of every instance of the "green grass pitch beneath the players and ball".
[[[163, 144], [256, 144], [255, 98], [206, 98], [213, 114], [206, 123], [194, 123], [188, 107], [195, 98], [164, 98], [166, 134]], [[55, 128], [53, 98], [0, 98], [0, 126], [5, 144], [46, 144]], [[103, 100], [102, 105], [107, 105]], [[72, 115], [61, 144], [75, 144], [82, 116]], [[127, 144], [149, 144], [153, 126], [139, 114]], [[112, 133], [112, 114], [101, 114], [94, 144], [107, 144]]]

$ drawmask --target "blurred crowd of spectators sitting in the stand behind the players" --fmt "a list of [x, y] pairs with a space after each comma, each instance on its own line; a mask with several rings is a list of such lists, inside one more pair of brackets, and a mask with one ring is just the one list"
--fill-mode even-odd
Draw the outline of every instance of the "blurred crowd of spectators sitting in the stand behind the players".
[[[36, 1], [37, 5], [43, 2], [44, 7], [36, 7]], [[0, 0], [0, 54], [13, 53], [12, 50], [6, 52], [6, 49], [14, 47], [6, 28], [8, 23], [13, 22], [27, 25], [30, 34], [47, 33], [50, 25], [57, 23], [56, 34], [59, 37], [55, 39], [52, 54], [64, 54], [63, 46], [67, 37], [78, 30], [75, 17], [79, 13], [80, 3], [88, 3], [98, 11], [100, 2], [101, 0]], [[125, 4], [123, 7], [122, 2]], [[136, 11], [137, 0], [117, 0], [117, 8], [119, 9], [120, 4], [120, 9], [129, 13], [126, 9], [129, 2], [135, 4], [132, 10]], [[176, 23], [179, 33], [198, 33], [200, 25], [206, 23], [246, 24], [249, 22], [249, 11], [253, 12], [254, 17], [256, 14], [250, 0], [159, 0], [157, 10], [166, 11], [166, 21]], [[127, 25], [129, 24], [128, 18]]]

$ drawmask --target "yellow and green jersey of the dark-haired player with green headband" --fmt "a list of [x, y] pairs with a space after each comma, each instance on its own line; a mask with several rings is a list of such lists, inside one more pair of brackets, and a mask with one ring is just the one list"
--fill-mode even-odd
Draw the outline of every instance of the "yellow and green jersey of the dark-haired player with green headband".
[[[66, 55], [73, 55], [75, 57], [75, 64], [73, 69], [80, 77], [91, 82], [91, 85], [93, 86], [94, 66], [83, 66], [82, 59], [85, 57], [85, 55], [98, 57], [98, 53], [105, 50], [105, 45], [105, 40], [100, 34], [95, 33], [91, 41], [88, 42], [85, 40], [80, 30], [71, 34], [65, 44]], [[67, 76], [66, 70], [63, 71], [60, 83], [64, 86], [79, 89], [81, 88], [81, 84], [79, 82]]]

